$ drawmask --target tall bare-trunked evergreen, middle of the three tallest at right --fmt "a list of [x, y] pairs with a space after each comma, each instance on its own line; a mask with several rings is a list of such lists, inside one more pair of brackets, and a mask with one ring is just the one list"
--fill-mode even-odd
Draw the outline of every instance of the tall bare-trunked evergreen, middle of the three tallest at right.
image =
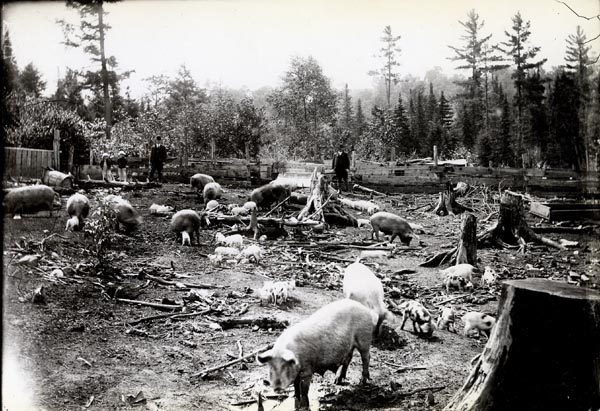
[[517, 107], [516, 131], [517, 131], [517, 155], [520, 156], [525, 147], [523, 146], [524, 124], [523, 110], [527, 105], [524, 99], [523, 88], [527, 80], [527, 73], [531, 69], [538, 69], [547, 59], [533, 61], [540, 51], [540, 47], [529, 47], [529, 36], [531, 36], [531, 23], [523, 21], [521, 13], [512, 17], [512, 32], [505, 31], [504, 34], [508, 40], [501, 43], [499, 50], [514, 62], [515, 71], [512, 74], [517, 95], [515, 96], [515, 106]]

